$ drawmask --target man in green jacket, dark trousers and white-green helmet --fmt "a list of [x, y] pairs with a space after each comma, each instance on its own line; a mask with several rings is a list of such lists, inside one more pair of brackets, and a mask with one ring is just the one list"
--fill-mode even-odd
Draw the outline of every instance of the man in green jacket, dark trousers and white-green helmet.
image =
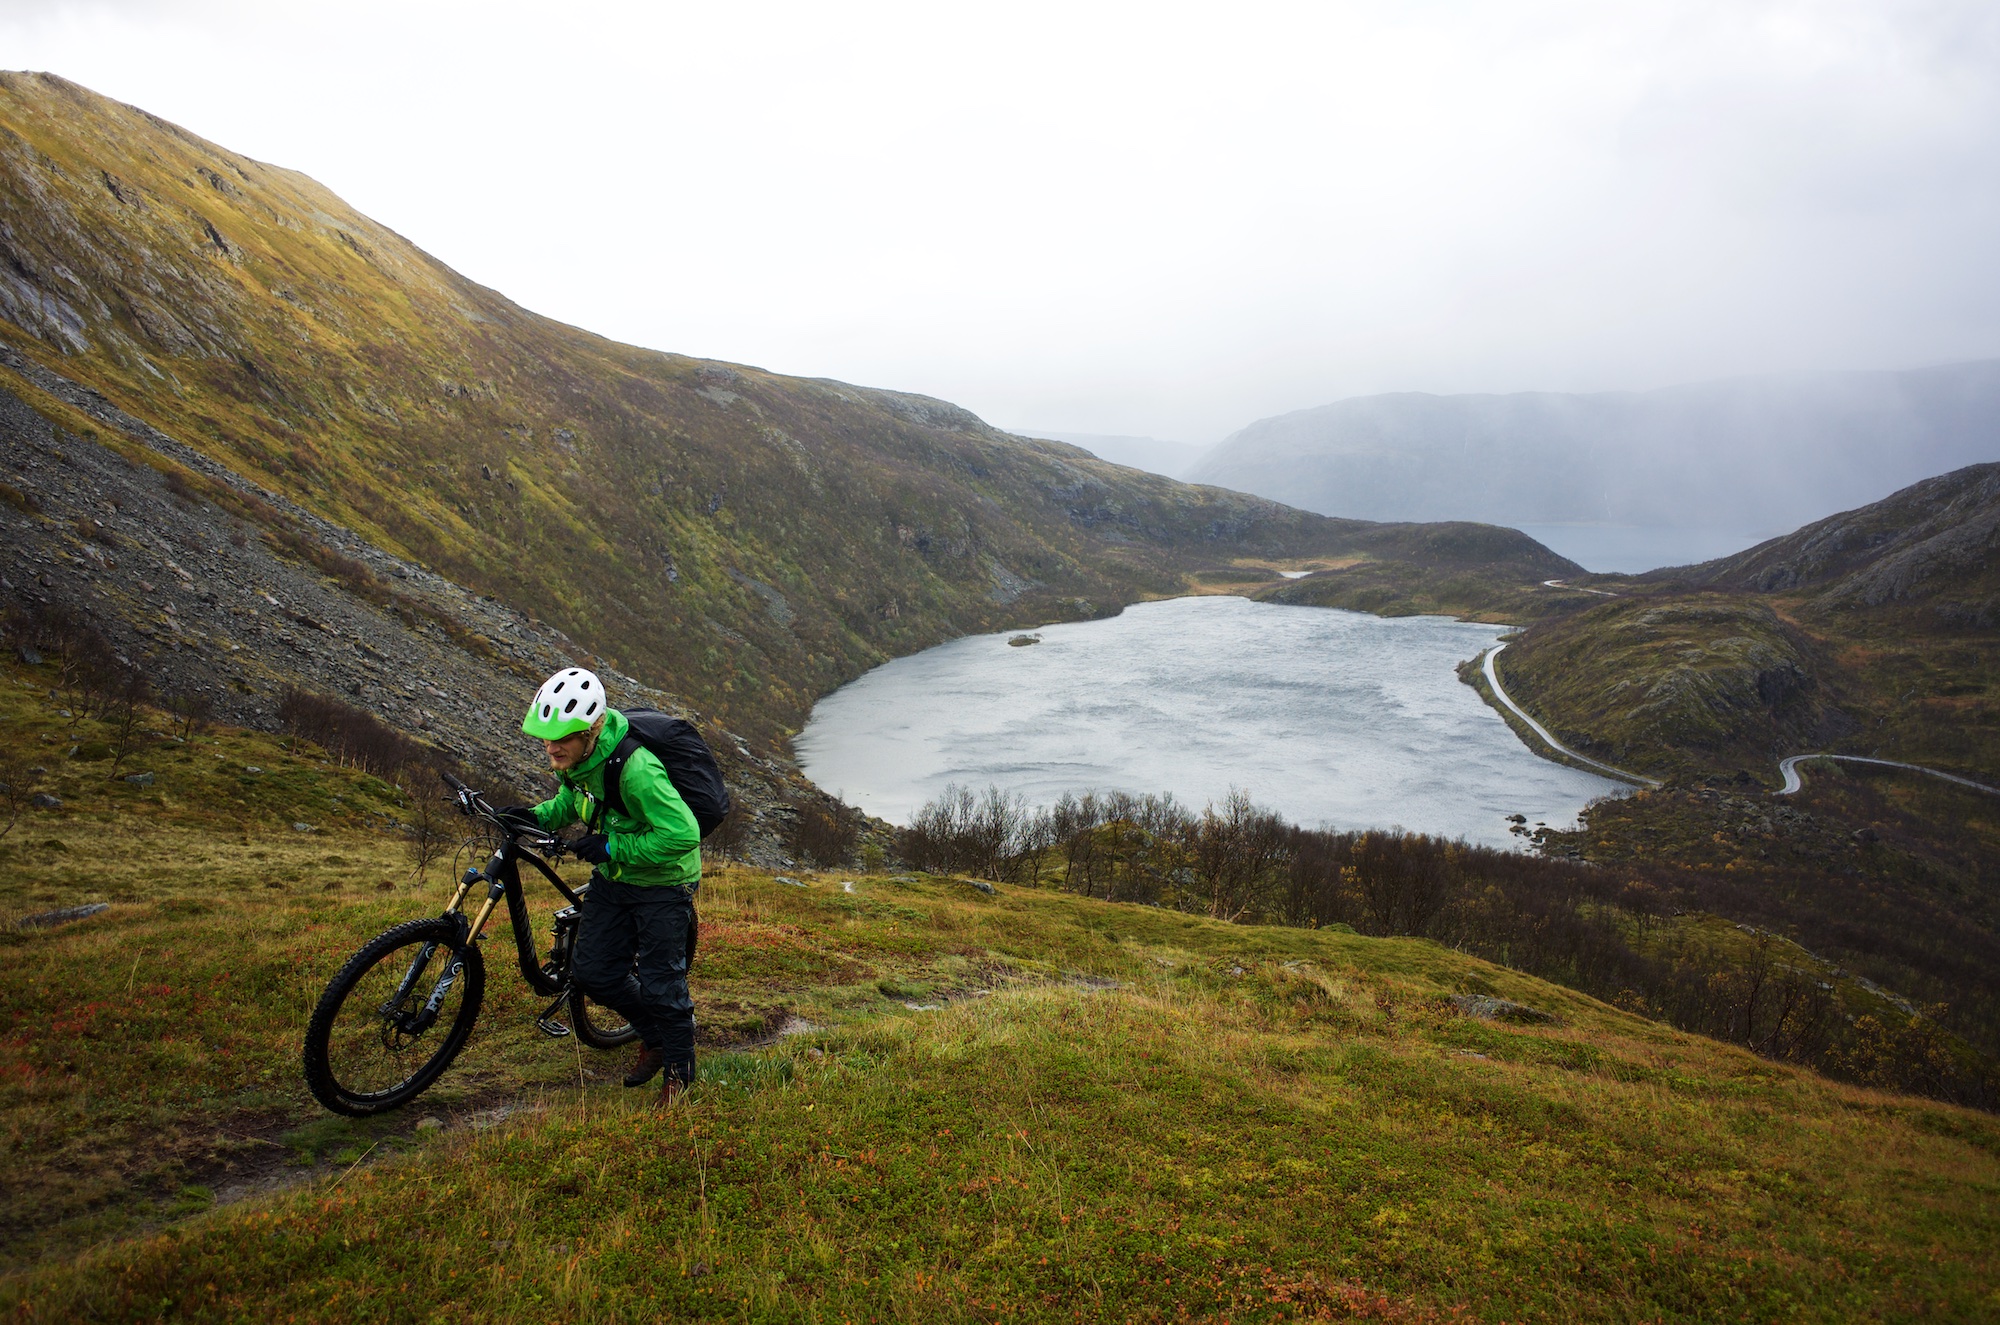
[[544, 833], [588, 829], [576, 855], [596, 869], [576, 937], [576, 987], [630, 1021], [644, 1041], [628, 1087], [666, 1069], [660, 1103], [694, 1083], [694, 891], [702, 885], [702, 833], [652, 751], [634, 749], [618, 781], [624, 813], [604, 795], [604, 765], [628, 723], [604, 701], [594, 673], [570, 667], [536, 691], [520, 729], [540, 737], [560, 783], [550, 801], [514, 807]]

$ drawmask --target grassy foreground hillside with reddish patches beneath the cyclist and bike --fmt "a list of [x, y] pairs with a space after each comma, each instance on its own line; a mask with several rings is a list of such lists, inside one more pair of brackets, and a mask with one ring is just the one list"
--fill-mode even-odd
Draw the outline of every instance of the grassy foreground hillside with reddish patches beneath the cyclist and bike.
[[[18, 681], [14, 767], [58, 745]], [[444, 1085], [400, 1117], [328, 1119], [296, 1079], [312, 997], [436, 905], [374, 827], [392, 793], [230, 729], [150, 743], [146, 787], [84, 771], [44, 775], [62, 807], [28, 811], [12, 841], [32, 851], [0, 881], [12, 921], [110, 903], [0, 939], [18, 1319], [2000, 1303], [1988, 1117], [1424, 941], [952, 879], [712, 875], [704, 1079], [672, 1115], [612, 1059], [540, 1039], [492, 963]], [[1480, 1019], [1480, 999], [1554, 1021]]]

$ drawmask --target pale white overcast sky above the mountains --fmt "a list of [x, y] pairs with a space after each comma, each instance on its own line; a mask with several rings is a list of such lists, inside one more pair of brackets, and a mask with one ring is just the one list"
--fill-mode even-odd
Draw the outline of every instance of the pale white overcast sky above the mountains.
[[1992, 0], [6, 0], [0, 66], [1024, 430], [2000, 354]]

